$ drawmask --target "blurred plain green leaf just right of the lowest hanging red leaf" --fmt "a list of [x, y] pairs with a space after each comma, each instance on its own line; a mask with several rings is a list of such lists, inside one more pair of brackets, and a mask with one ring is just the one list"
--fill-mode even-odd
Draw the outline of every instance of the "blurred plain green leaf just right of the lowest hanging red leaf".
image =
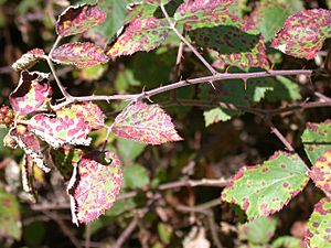
[[149, 184], [148, 171], [139, 165], [132, 164], [124, 169], [124, 188], [141, 188]]

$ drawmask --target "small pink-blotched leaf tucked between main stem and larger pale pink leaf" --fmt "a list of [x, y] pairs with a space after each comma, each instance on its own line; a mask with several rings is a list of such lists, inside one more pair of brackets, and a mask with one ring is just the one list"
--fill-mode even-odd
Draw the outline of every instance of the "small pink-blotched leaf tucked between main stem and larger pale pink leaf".
[[71, 106], [71, 109], [81, 112], [92, 130], [98, 130], [105, 126], [105, 115], [102, 109], [92, 103], [81, 103]]

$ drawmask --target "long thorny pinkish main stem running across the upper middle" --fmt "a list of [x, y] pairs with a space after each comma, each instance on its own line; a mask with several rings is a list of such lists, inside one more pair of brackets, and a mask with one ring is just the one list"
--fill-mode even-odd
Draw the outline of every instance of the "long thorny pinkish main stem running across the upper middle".
[[[96, 101], [96, 100], [141, 100], [146, 98], [150, 98], [154, 95], [166, 93], [169, 90], [173, 90], [177, 88], [185, 87], [189, 85], [196, 85], [196, 84], [204, 84], [209, 83], [211, 80], [222, 80], [222, 79], [238, 79], [238, 78], [257, 78], [257, 77], [273, 77], [273, 76], [290, 76], [290, 75], [308, 75], [310, 76], [312, 74], [311, 69], [285, 69], [285, 71], [269, 71], [269, 72], [258, 72], [258, 73], [232, 73], [232, 74], [222, 74], [217, 73], [213, 76], [204, 76], [204, 77], [197, 77], [193, 79], [184, 79], [179, 80], [177, 83], [161, 86], [159, 88], [154, 88], [148, 91], [142, 91], [140, 94], [132, 94], [132, 95], [113, 95], [113, 96], [105, 96], [105, 95], [93, 95], [93, 96], [81, 96], [81, 97], [74, 97], [68, 95], [65, 101], [56, 105], [56, 109], [63, 108], [70, 104], [73, 104], [75, 101]], [[65, 91], [66, 93], [66, 91]]]

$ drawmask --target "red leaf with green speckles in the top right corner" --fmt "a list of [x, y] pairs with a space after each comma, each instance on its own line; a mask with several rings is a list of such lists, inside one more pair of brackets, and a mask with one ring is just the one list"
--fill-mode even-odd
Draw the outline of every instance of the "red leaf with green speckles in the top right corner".
[[331, 37], [331, 11], [303, 10], [286, 20], [271, 46], [295, 57], [312, 60], [328, 37]]

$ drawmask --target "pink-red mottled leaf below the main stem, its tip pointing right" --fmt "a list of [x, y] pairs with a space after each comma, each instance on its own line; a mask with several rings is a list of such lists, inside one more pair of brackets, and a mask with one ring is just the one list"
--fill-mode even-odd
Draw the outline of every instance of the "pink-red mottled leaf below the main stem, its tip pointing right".
[[124, 109], [115, 119], [111, 131], [126, 138], [148, 144], [161, 144], [168, 141], [180, 141], [163, 109], [158, 105], [137, 103]]

